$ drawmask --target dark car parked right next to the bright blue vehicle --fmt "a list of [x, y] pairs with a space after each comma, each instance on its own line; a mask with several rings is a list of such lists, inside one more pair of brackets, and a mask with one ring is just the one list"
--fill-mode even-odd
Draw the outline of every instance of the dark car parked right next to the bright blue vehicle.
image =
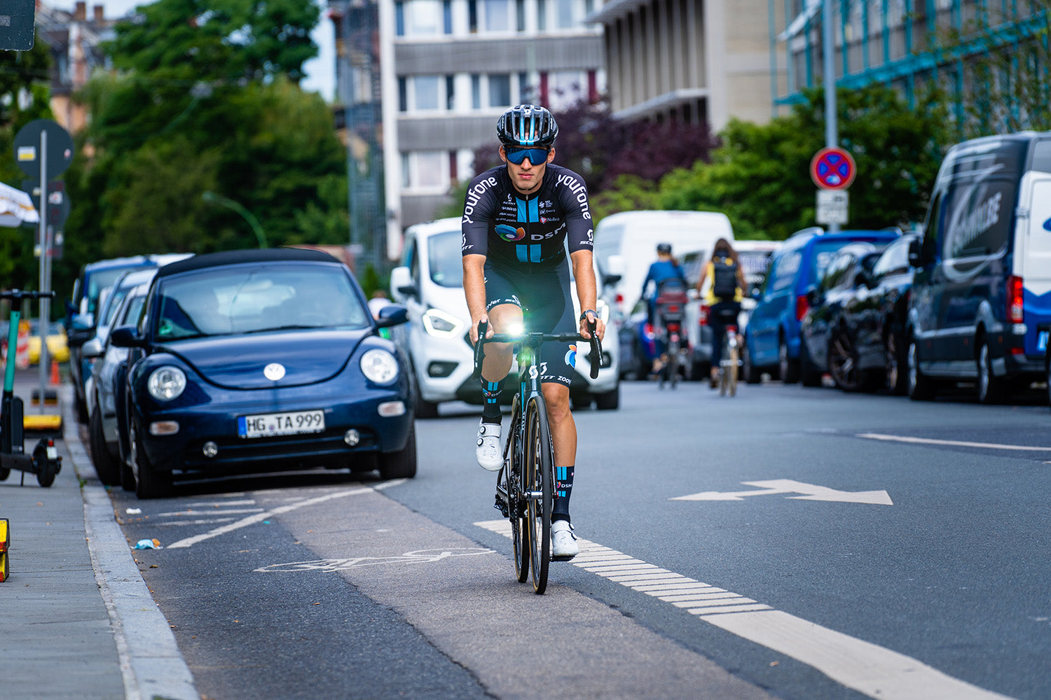
[[[875, 389], [886, 377], [883, 358], [862, 365], [857, 353], [858, 328], [848, 310], [867, 290], [869, 273], [883, 247], [844, 246], [825, 269], [818, 287], [806, 293], [807, 312], [800, 324], [799, 369], [804, 386], [820, 386], [824, 373], [846, 391]], [[908, 249], [906, 248], [906, 251]]]

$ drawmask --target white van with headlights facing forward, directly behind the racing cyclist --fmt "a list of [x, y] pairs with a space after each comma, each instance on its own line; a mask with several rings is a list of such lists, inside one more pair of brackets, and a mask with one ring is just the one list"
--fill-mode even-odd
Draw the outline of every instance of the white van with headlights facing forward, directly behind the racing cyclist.
[[[481, 386], [473, 378], [474, 352], [468, 340], [471, 315], [463, 296], [461, 240], [458, 217], [409, 227], [401, 263], [391, 271], [391, 299], [409, 310], [409, 322], [391, 331], [412, 364], [417, 418], [436, 417], [438, 404], [448, 401], [481, 405]], [[579, 316], [575, 284], [571, 282], [570, 289]], [[596, 311], [609, 323], [609, 306], [600, 300]], [[577, 355], [579, 364], [570, 386], [574, 408], [591, 405], [593, 401], [600, 409], [619, 406], [616, 334], [607, 334], [606, 339], [602, 345], [603, 366], [597, 379], [591, 379], [586, 355]], [[509, 398], [512, 394], [504, 391]]]

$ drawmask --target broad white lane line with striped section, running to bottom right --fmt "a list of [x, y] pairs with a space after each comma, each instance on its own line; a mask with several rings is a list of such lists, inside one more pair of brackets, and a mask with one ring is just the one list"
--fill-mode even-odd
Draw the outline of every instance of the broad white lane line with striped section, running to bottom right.
[[[507, 518], [475, 525], [511, 536], [511, 523]], [[654, 573], [628, 575], [623, 575], [622, 571], [594, 571], [593, 557], [598, 554], [618, 556], [622, 552], [586, 539], [577, 539], [577, 544], [580, 545], [580, 554], [572, 561], [577, 568], [683, 609], [700, 620], [790, 656], [870, 698], [1010, 700], [1007, 696], [952, 678], [904, 654], [808, 622], [738, 593], [666, 569], [654, 568], [647, 570]], [[634, 557], [631, 560], [638, 561]]]

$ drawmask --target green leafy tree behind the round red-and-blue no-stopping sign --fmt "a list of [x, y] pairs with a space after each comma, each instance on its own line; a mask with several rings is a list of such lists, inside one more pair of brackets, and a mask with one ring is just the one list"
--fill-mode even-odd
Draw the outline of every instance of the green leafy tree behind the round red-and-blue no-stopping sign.
[[[743, 238], [783, 239], [813, 226], [816, 187], [808, 173], [824, 146], [824, 93], [819, 88], [806, 98], [763, 126], [731, 121], [710, 164], [661, 179], [660, 208], [722, 211]], [[909, 109], [884, 86], [841, 89], [838, 113], [840, 144], [858, 166], [848, 226], [881, 229], [922, 218], [951, 141], [937, 97]]]

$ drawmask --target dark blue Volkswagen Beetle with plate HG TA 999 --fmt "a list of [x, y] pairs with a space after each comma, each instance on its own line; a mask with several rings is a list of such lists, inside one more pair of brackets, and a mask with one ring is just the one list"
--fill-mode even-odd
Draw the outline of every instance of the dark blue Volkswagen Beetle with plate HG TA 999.
[[128, 466], [139, 497], [173, 476], [378, 468], [414, 476], [407, 364], [349, 269], [314, 250], [198, 255], [153, 278], [128, 347]]

